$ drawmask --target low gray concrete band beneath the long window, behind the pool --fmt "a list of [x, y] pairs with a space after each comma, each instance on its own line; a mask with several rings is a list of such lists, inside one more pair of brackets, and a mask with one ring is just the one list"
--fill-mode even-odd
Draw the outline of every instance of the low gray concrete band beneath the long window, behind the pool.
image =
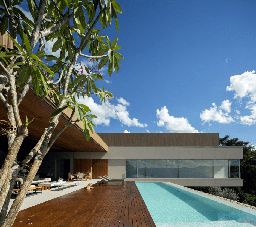
[[243, 179], [236, 179], [236, 178], [126, 178], [125, 181], [163, 181], [163, 182], [170, 182], [174, 184], [178, 184], [185, 187], [196, 187], [196, 186], [211, 186], [212, 184], [217, 184], [222, 187], [242, 187], [243, 186]]

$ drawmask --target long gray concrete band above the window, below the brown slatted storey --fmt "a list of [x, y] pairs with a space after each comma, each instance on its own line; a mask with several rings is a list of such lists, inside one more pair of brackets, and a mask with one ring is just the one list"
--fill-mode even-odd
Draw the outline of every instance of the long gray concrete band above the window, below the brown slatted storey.
[[75, 158], [243, 159], [243, 147], [108, 147], [108, 152], [75, 152]]

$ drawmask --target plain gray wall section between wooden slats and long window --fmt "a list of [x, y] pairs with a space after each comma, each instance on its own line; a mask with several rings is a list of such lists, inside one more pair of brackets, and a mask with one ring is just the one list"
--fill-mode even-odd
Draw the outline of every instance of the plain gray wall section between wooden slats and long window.
[[125, 159], [108, 159], [108, 176], [111, 178], [124, 179], [125, 168]]

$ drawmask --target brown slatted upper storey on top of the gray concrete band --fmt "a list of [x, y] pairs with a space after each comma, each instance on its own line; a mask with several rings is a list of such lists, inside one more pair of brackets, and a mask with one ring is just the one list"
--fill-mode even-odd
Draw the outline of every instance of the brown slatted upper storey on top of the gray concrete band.
[[98, 133], [108, 146], [219, 146], [219, 133]]

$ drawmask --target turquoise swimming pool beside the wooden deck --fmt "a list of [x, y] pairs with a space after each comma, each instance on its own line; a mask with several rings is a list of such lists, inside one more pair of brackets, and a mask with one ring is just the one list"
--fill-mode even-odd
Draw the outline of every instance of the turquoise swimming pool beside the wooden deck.
[[157, 227], [256, 226], [256, 210], [251, 208], [165, 182], [136, 185]]

